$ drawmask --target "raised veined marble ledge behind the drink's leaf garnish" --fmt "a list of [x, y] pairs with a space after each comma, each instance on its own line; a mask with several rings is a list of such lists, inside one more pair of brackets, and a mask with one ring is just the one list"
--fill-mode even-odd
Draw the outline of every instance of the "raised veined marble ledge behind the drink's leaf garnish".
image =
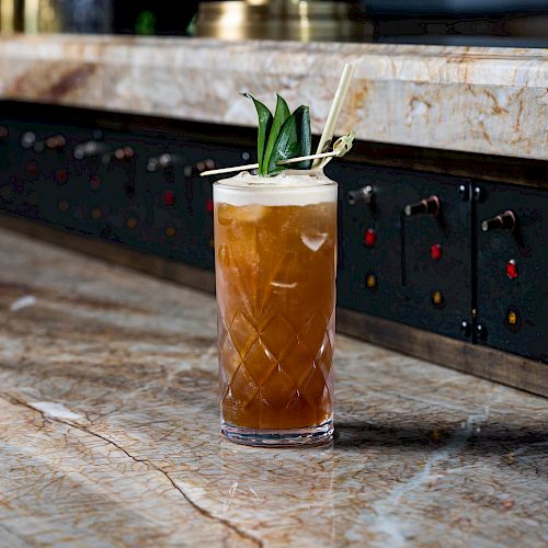
[[321, 133], [344, 62], [357, 75], [339, 133], [548, 159], [548, 50], [204, 38], [0, 38], [0, 98], [255, 125], [248, 91], [309, 104]]

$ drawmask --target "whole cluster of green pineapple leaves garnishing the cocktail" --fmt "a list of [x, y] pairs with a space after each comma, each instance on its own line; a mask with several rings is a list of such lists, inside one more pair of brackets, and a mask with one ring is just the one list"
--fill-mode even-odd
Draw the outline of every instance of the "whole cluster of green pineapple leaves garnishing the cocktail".
[[309, 169], [310, 160], [290, 165], [278, 165], [281, 160], [310, 156], [312, 136], [310, 130], [310, 113], [308, 106], [299, 106], [289, 114], [287, 103], [277, 95], [276, 111], [272, 116], [269, 109], [253, 100], [259, 117], [258, 161], [260, 175], [273, 175], [285, 169]]

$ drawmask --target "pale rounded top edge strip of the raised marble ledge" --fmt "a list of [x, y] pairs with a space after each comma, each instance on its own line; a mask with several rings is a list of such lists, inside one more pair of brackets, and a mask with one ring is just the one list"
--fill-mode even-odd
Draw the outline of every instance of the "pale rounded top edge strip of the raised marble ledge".
[[[111, 52], [111, 55], [107, 53]], [[487, 84], [540, 88], [548, 85], [548, 49], [464, 47], [354, 43], [295, 43], [275, 41], [221, 42], [214, 38], [153, 38], [94, 35], [14, 35], [0, 37], [0, 58], [84, 61], [106, 65], [171, 66], [240, 72], [242, 65], [227, 65], [227, 57], [247, 61], [243, 70], [290, 76], [332, 76], [344, 61], [358, 66], [367, 80], [414, 81], [441, 84]], [[148, 53], [148, 55], [144, 55]], [[159, 53], [161, 55], [159, 55]], [[311, 60], [277, 65], [281, 57]], [[341, 59], [339, 62], [338, 59]], [[334, 66], [333, 66], [334, 64]], [[362, 69], [362, 70], [361, 70]], [[365, 71], [365, 69], [368, 69]], [[430, 70], [430, 71], [429, 71]], [[435, 70], [435, 72], [433, 72]], [[359, 73], [362, 72], [362, 73]]]

